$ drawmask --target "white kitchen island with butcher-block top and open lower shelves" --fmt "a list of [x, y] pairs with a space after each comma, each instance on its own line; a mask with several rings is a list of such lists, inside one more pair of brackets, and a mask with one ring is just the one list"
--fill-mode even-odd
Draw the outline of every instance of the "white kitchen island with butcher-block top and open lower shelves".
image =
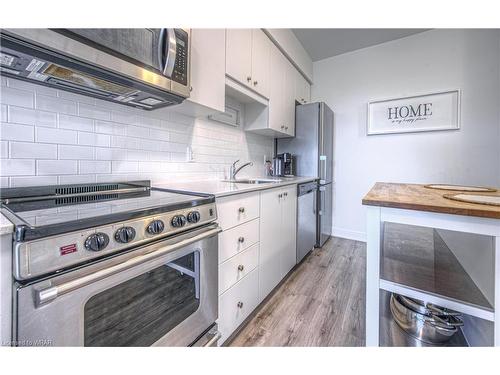
[[[470, 337], [454, 339], [450, 346], [500, 346], [500, 206], [444, 197], [450, 193], [461, 191], [377, 182], [363, 198], [367, 206], [367, 346], [412, 345], [398, 336], [402, 331], [398, 333], [387, 309], [390, 293], [462, 313], [464, 332], [466, 327]], [[498, 190], [481, 194], [500, 196]], [[408, 233], [405, 228], [410, 228]], [[481, 252], [477, 264], [473, 262], [474, 272], [484, 266], [485, 274], [491, 273], [491, 288], [476, 285], [448, 249], [441, 231], [477, 236], [481, 244], [487, 244], [488, 249], [471, 246], [466, 251]], [[489, 298], [484, 289], [491, 291]]]

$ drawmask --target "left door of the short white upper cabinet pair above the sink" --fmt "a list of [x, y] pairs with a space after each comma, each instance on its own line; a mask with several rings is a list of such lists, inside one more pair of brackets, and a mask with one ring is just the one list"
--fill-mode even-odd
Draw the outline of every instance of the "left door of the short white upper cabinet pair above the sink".
[[252, 29], [226, 29], [226, 74], [250, 86]]

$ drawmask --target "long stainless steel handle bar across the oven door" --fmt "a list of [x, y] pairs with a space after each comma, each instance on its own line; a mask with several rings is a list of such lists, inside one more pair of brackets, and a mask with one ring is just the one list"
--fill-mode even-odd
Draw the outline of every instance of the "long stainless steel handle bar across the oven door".
[[187, 238], [185, 240], [179, 241], [175, 244], [172, 245], [167, 245], [164, 246], [156, 251], [146, 253], [143, 255], [139, 255], [137, 257], [128, 259], [124, 261], [123, 263], [118, 263], [114, 266], [104, 268], [102, 270], [99, 270], [97, 272], [94, 272], [89, 275], [85, 275], [83, 277], [79, 277], [74, 280], [67, 281], [65, 283], [59, 284], [59, 285], [54, 285], [50, 288], [46, 289], [41, 289], [36, 292], [35, 298], [36, 298], [36, 304], [37, 306], [43, 305], [45, 303], [51, 302], [54, 299], [56, 299], [58, 296], [61, 296], [63, 294], [72, 292], [76, 289], [82, 288], [86, 285], [92, 284], [96, 281], [105, 279], [106, 277], [115, 275], [119, 272], [125, 271], [127, 269], [130, 269], [132, 267], [138, 266], [142, 263], [145, 263], [147, 261], [156, 259], [162, 255], [165, 255], [167, 253], [170, 253], [174, 250], [180, 249], [182, 247], [188, 246], [192, 243], [195, 243], [197, 241], [203, 240], [208, 237], [212, 237], [214, 235], [217, 235], [219, 232], [221, 232], [222, 229], [219, 227], [216, 227], [214, 229], [210, 229], [206, 232], [200, 233], [197, 236]]

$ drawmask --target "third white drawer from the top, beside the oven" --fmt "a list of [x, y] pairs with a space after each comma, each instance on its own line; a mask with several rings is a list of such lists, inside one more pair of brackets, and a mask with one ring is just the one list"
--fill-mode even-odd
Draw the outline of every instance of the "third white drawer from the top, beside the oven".
[[219, 266], [219, 295], [257, 267], [259, 244], [251, 246]]

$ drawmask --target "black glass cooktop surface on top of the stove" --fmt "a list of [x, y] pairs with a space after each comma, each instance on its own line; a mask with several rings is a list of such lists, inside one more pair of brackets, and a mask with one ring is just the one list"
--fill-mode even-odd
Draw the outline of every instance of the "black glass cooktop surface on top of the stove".
[[36, 195], [31, 188], [2, 189], [2, 212], [15, 224], [17, 240], [26, 241], [215, 201], [210, 195], [149, 187], [81, 190]]

